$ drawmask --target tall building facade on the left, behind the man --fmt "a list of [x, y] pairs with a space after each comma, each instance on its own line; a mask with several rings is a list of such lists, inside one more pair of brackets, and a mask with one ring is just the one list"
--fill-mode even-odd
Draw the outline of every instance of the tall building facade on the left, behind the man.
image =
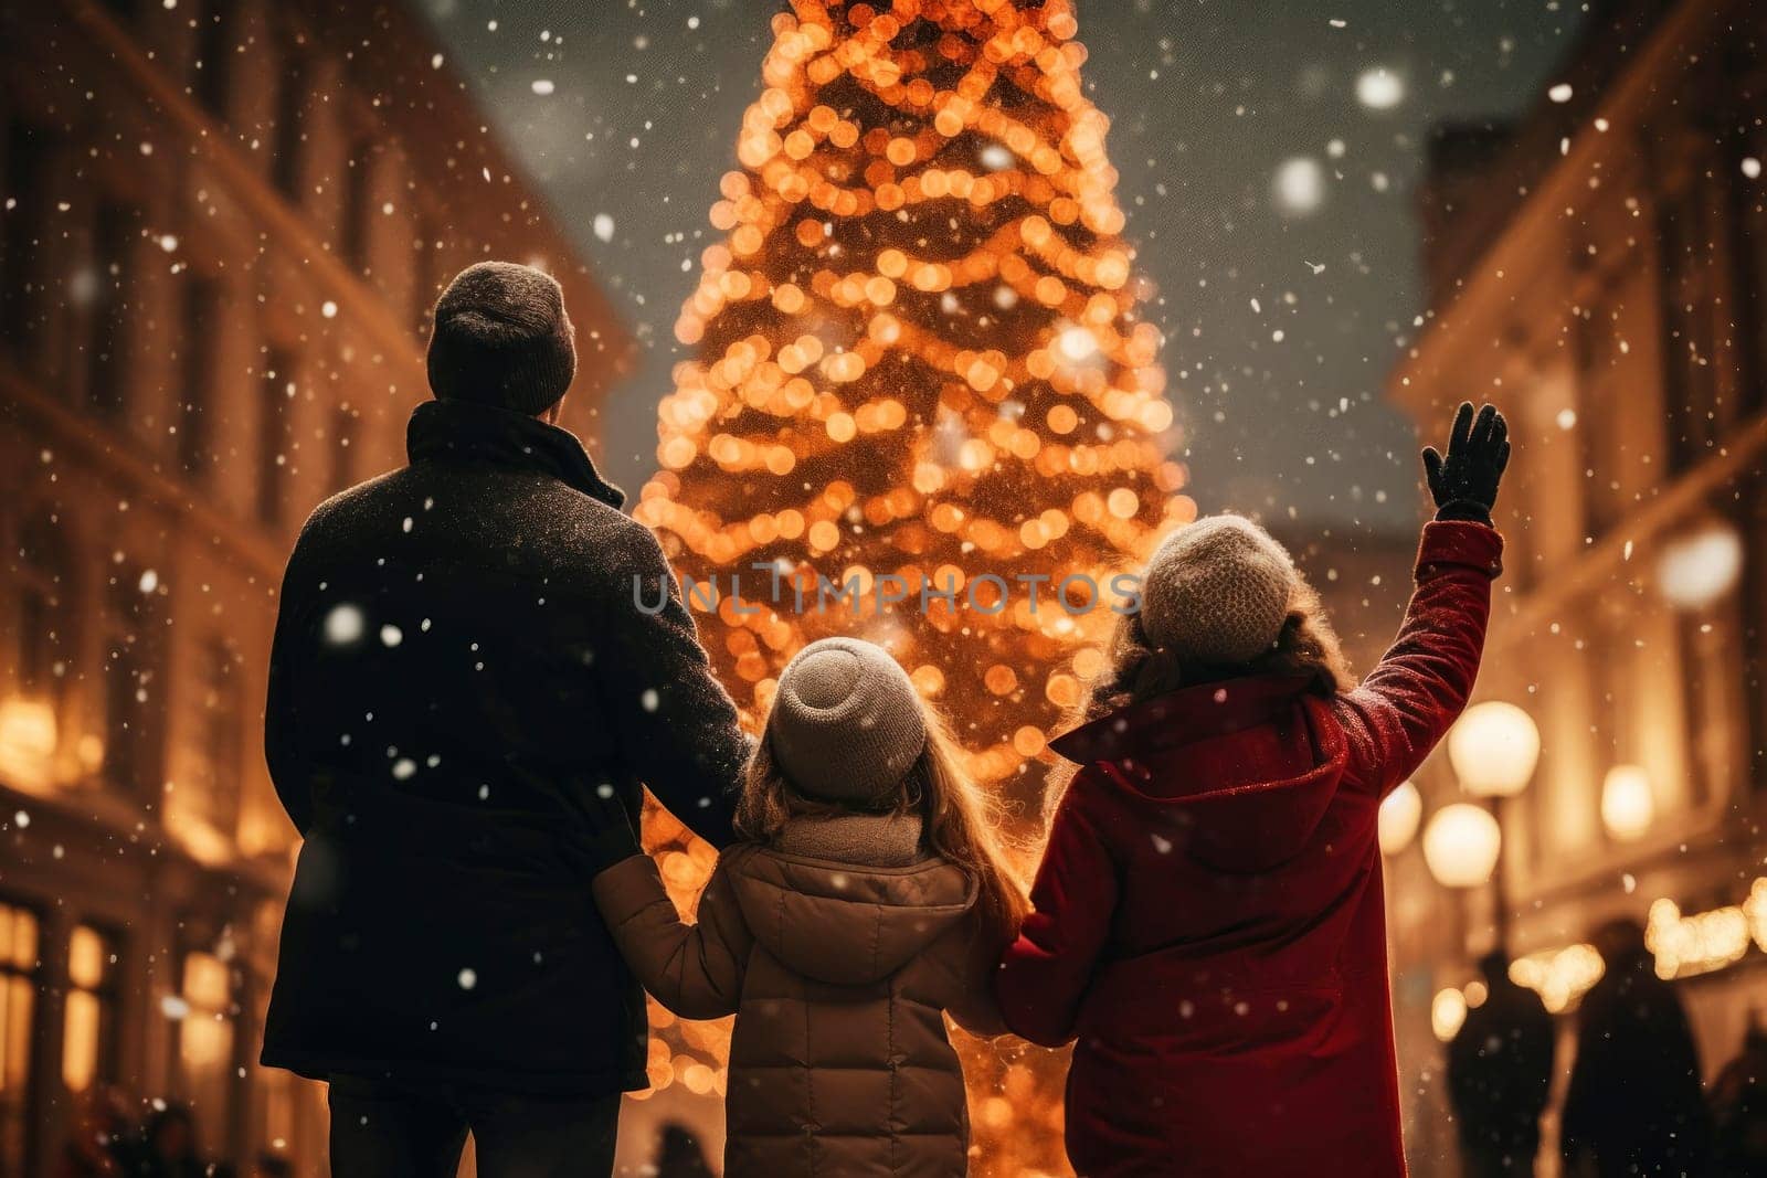
[[256, 1063], [283, 562], [403, 463], [458, 268], [558, 276], [587, 438], [629, 339], [399, 5], [5, 5], [0, 62], [0, 1174], [95, 1090], [318, 1173], [322, 1093]]

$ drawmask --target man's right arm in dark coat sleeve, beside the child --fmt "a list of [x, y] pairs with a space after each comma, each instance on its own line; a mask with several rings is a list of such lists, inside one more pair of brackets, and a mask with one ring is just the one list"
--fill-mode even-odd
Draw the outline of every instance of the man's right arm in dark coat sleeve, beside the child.
[[626, 530], [606, 565], [613, 600], [592, 669], [617, 721], [620, 756], [675, 818], [724, 848], [753, 742], [712, 676], [650, 530]]

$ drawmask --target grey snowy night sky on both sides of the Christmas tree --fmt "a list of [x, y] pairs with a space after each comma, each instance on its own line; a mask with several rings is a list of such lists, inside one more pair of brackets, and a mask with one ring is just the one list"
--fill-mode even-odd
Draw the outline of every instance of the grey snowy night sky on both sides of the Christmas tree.
[[[643, 346], [603, 438], [606, 473], [636, 491], [781, 5], [419, 4]], [[1580, 18], [1569, 0], [1080, 5], [1205, 512], [1415, 526], [1417, 443], [1382, 387], [1426, 309], [1428, 129], [1546, 101]]]

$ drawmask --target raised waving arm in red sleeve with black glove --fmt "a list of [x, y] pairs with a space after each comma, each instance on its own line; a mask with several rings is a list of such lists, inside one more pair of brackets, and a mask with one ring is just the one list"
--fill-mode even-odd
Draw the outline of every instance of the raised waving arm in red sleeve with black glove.
[[1463, 404], [1447, 457], [1424, 450], [1437, 519], [1424, 525], [1405, 623], [1362, 685], [1339, 699], [1350, 777], [1385, 795], [1410, 777], [1460, 717], [1479, 675], [1491, 579], [1504, 537], [1491, 526], [1509, 434], [1491, 406]]

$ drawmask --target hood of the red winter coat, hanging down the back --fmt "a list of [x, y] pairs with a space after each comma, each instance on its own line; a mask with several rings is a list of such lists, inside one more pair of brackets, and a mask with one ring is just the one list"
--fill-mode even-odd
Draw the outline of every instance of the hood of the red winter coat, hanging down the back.
[[[1184, 853], [1228, 872], [1269, 871], [1306, 848], [1348, 749], [1311, 678], [1202, 683], [1119, 708], [1050, 747], [1159, 807]], [[1322, 722], [1323, 721], [1323, 722]], [[1164, 850], [1164, 848], [1161, 848]]]

